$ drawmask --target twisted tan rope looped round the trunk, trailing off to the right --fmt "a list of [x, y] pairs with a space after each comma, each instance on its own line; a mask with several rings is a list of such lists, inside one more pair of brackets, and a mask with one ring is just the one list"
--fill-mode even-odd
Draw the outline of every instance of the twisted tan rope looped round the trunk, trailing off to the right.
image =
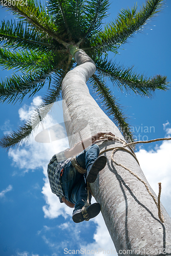
[[[116, 136], [113, 137], [113, 136], [111, 136], [111, 135], [104, 134], [103, 137], [99, 138], [99, 141], [100, 141], [100, 140], [103, 140], [103, 139], [104, 139], [104, 140], [112, 139], [112, 140], [115, 140], [115, 141], [118, 141], [118, 142], [121, 142], [121, 143], [122, 143], [122, 146], [107, 148], [106, 150], [101, 151], [99, 155], [103, 154], [103, 153], [106, 152], [106, 151], [111, 151], [111, 150], [113, 150], [112, 155], [111, 155], [112, 161], [113, 161], [116, 165], [119, 165], [119, 166], [121, 166], [122, 168], [128, 170], [132, 175], [134, 175], [139, 181], [141, 181], [141, 182], [144, 184], [144, 186], [146, 187], [146, 189], [147, 189], [149, 195], [151, 195], [151, 197], [153, 198], [153, 200], [154, 200], [154, 202], [155, 202], [155, 204], [156, 204], [156, 206], [157, 206], [157, 208], [158, 208], [158, 216], [159, 216], [160, 221], [163, 223], [163, 222], [164, 222], [164, 217], [163, 217], [163, 215], [162, 215], [162, 211], [161, 211], [161, 208], [160, 208], [161, 182], [158, 183], [158, 184], [159, 184], [159, 195], [158, 195], [158, 202], [157, 202], [155, 196], [154, 196], [154, 195], [152, 194], [152, 192], [149, 190], [149, 188], [148, 188], [146, 182], [143, 181], [142, 179], [140, 179], [140, 178], [138, 177], [138, 175], [136, 175], [135, 173], [133, 173], [129, 168], [127, 168], [127, 167], [124, 166], [123, 164], [117, 163], [117, 162], [114, 160], [114, 154], [115, 154], [117, 151], [119, 151], [119, 150], [126, 151], [127, 153], [131, 154], [131, 155], [136, 159], [137, 163], [139, 164], [138, 159], [137, 159], [137, 157], [136, 157], [134, 151], [133, 151], [132, 148], [131, 148], [131, 145], [135, 145], [135, 144], [138, 144], [138, 143], [151, 143], [151, 142], [161, 141], [161, 140], [171, 140], [171, 138], [159, 138], [159, 139], [154, 139], [154, 140], [135, 141], [135, 142], [126, 143], [124, 140], [122, 140], [122, 139], [120, 139], [120, 138], [118, 138], [118, 137], [116, 137]], [[96, 141], [98, 141], [98, 140], [96, 140]], [[130, 150], [127, 150], [125, 147], [129, 147]], [[88, 191], [89, 191], [89, 189], [90, 189], [90, 186], [88, 187]], [[91, 193], [91, 194], [92, 194], [92, 193]]]

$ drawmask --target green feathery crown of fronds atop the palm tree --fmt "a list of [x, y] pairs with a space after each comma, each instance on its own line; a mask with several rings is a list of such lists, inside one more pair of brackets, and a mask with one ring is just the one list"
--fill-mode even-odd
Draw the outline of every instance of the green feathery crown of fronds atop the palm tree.
[[122, 9], [114, 22], [103, 26], [108, 0], [49, 0], [46, 6], [34, 0], [8, 0], [5, 8], [12, 10], [18, 19], [2, 22], [0, 37], [4, 45], [0, 48], [0, 65], [22, 74], [14, 73], [0, 83], [0, 99], [12, 103], [22, 101], [26, 95], [35, 95], [47, 81], [49, 88], [32, 120], [17, 132], [4, 136], [0, 145], [9, 148], [28, 139], [33, 127], [60, 98], [62, 79], [76, 66], [70, 54], [73, 46], [86, 51], [95, 61], [96, 73], [89, 81], [124, 137], [133, 141], [127, 118], [106, 86], [106, 77], [121, 90], [125, 88], [148, 97], [156, 89], [166, 90], [168, 82], [165, 76], [148, 78], [135, 73], [133, 67], [119, 66], [108, 59], [108, 52], [116, 54], [129, 37], [141, 31], [147, 20], [161, 10], [162, 3], [163, 0], [148, 0], [139, 11], [136, 5], [131, 10]]

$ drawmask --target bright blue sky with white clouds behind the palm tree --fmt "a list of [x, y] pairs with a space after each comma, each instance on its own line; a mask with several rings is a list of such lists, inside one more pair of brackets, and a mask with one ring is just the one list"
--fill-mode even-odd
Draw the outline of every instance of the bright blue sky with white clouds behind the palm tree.
[[[144, 1], [138, 0], [138, 6]], [[113, 1], [110, 16], [115, 18], [120, 9], [134, 6], [133, 0]], [[170, 12], [171, 3], [166, 0], [163, 11], [149, 22], [141, 33], [130, 38], [114, 58], [124, 66], [134, 65], [146, 76], [170, 75]], [[11, 19], [9, 12], [0, 9], [1, 19]], [[10, 72], [0, 70], [2, 78]], [[124, 107], [135, 136], [141, 139], [169, 137], [171, 134], [171, 91], [156, 91], [153, 98], [142, 98], [133, 93], [120, 92], [109, 83], [119, 103]], [[34, 106], [41, 101], [45, 90], [31, 99], [15, 105], [1, 105], [0, 135], [15, 130]], [[60, 103], [48, 116], [46, 127], [62, 122]], [[41, 131], [41, 127], [39, 128]], [[68, 147], [67, 139], [51, 144], [34, 141], [34, 136], [17, 150], [1, 152], [0, 179], [0, 255], [2, 256], [56, 256], [65, 255], [64, 249], [114, 250], [112, 240], [101, 215], [89, 222], [73, 223], [72, 209], [60, 204], [50, 191], [47, 180], [47, 164], [53, 154]], [[160, 142], [137, 147], [137, 157], [142, 170], [158, 194], [158, 182], [162, 182], [161, 201], [171, 216], [170, 142]], [[99, 255], [102, 255], [102, 252]], [[82, 254], [86, 255], [86, 253]]]

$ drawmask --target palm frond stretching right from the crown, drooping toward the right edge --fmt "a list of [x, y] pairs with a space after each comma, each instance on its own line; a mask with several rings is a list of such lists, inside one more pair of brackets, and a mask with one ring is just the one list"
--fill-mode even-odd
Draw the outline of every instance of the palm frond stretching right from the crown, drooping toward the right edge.
[[163, 91], [168, 89], [169, 82], [166, 76], [156, 75], [148, 78], [135, 73], [133, 67], [124, 68], [108, 61], [106, 57], [98, 57], [94, 61], [98, 73], [108, 77], [114, 86], [117, 85], [121, 90], [125, 88], [126, 91], [132, 90], [136, 94], [149, 97], [157, 89]]

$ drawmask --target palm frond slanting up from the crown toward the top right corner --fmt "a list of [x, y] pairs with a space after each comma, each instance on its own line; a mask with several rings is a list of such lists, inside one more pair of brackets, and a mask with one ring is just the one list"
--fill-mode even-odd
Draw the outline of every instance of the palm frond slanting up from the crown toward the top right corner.
[[126, 42], [127, 38], [143, 29], [143, 26], [160, 12], [163, 0], [147, 0], [139, 12], [137, 6], [132, 10], [123, 9], [115, 22], [111, 22], [91, 39], [91, 46], [103, 52], [117, 52], [117, 48]]

